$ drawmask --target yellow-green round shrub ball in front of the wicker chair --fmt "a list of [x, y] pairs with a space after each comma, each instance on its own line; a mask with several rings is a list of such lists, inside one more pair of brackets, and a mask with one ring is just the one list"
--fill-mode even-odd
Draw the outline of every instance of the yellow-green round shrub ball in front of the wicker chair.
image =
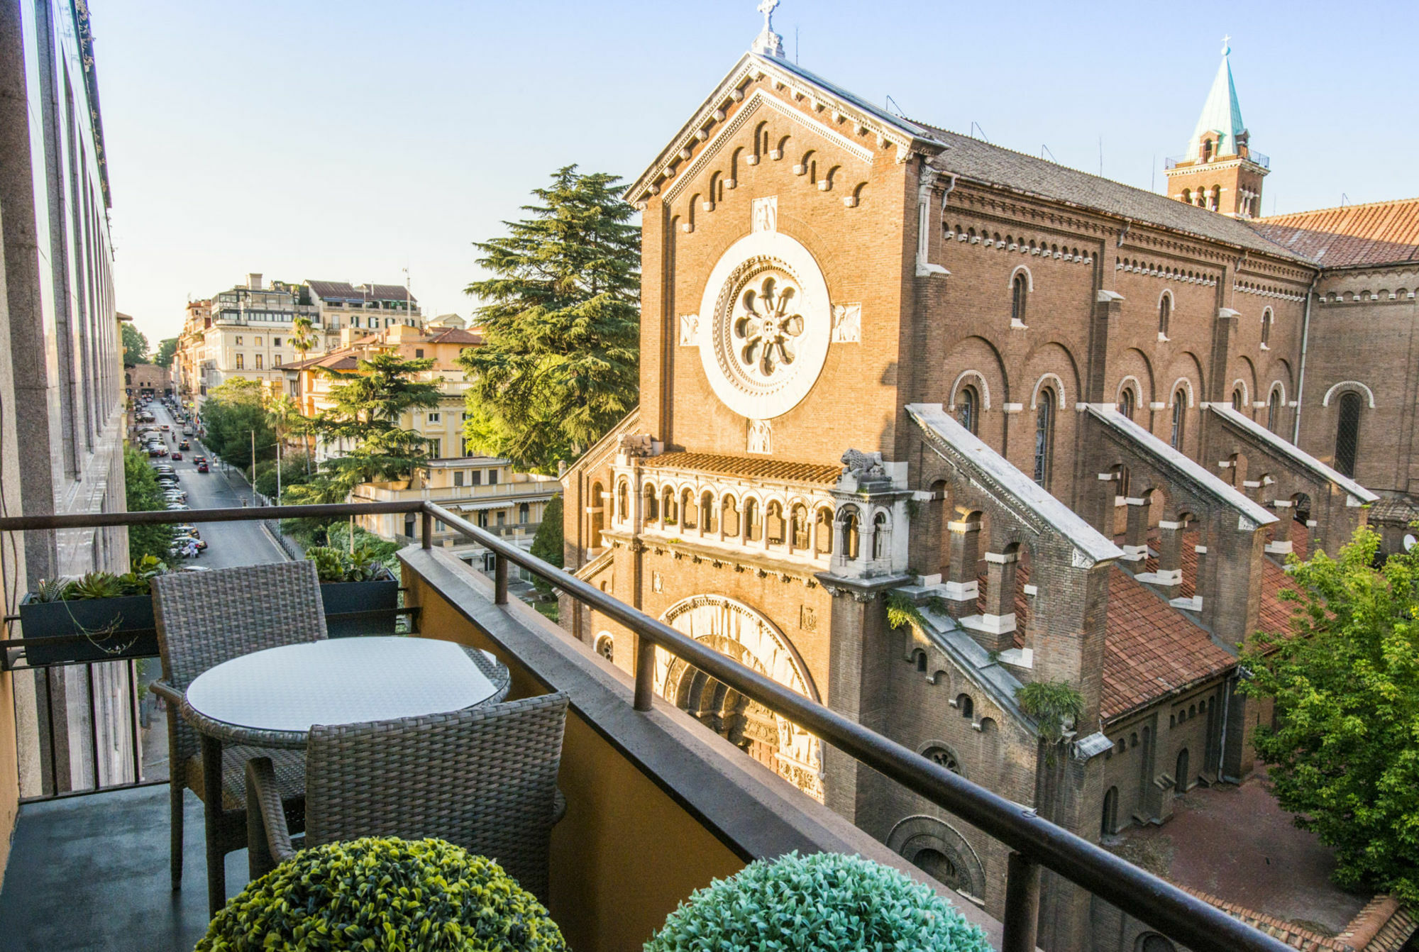
[[443, 840], [302, 850], [217, 912], [196, 952], [565, 952], [536, 898]]

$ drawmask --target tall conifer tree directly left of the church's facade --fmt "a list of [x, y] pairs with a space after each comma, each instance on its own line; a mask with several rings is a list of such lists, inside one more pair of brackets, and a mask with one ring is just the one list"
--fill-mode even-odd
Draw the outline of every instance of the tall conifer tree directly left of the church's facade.
[[484, 343], [460, 362], [467, 440], [488, 455], [555, 472], [636, 406], [640, 387], [640, 227], [616, 176], [558, 169], [509, 234], [475, 243], [494, 277], [467, 292], [484, 304]]

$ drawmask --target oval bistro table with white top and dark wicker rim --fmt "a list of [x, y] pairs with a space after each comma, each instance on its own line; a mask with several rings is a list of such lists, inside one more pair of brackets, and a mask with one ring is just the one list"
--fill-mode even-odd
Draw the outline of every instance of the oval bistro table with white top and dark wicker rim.
[[[253, 651], [203, 671], [183, 694], [182, 716], [201, 741], [203, 789], [221, 790], [224, 746], [304, 749], [316, 724], [448, 714], [501, 701], [509, 682], [508, 668], [491, 654], [453, 641], [326, 638]], [[210, 915], [227, 900], [224, 871], [210, 868], [213, 844], [245, 837], [244, 804], [227, 810], [223, 799], [204, 797], [203, 810]]]

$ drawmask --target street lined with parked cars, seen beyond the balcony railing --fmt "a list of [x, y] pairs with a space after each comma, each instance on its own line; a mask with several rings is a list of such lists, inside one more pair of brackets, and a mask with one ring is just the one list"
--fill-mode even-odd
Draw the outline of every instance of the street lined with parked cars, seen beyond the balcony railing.
[[[153, 400], [148, 409], [158, 417], [158, 426], [167, 424], [170, 431], [167, 448], [176, 450], [182, 441], [182, 426], [167, 411], [160, 400]], [[221, 472], [223, 467], [211, 460], [211, 453], [200, 443], [193, 441], [192, 451], [183, 451], [180, 463], [169, 463], [177, 471], [177, 480], [187, 492], [187, 505], [193, 509], [224, 509], [251, 504], [251, 491], [245, 481]], [[193, 464], [193, 454], [206, 454], [211, 463], [210, 472], [197, 472]], [[260, 522], [197, 522], [194, 524], [201, 538], [207, 541], [207, 549], [196, 559], [173, 559], [173, 568], [183, 565], [200, 565], [207, 569], [228, 569], [238, 565], [261, 565], [265, 562], [284, 562], [285, 553], [271, 542], [271, 538], [261, 529]]]

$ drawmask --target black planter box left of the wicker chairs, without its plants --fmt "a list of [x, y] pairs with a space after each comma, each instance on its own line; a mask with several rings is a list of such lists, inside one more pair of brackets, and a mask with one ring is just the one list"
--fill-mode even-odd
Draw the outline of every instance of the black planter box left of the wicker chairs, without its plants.
[[[74, 602], [33, 599], [26, 594], [20, 602], [24, 657], [31, 665], [158, 655], [158, 627], [149, 594]], [[45, 644], [47, 640], [53, 644]]]

